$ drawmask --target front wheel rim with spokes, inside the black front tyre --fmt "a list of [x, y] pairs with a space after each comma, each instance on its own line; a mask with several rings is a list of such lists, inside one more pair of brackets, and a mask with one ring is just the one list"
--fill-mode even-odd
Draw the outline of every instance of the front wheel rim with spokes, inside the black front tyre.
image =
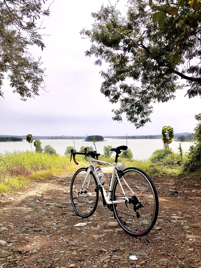
[[[81, 186], [86, 176], [86, 170], [80, 170], [74, 180], [71, 187], [71, 201], [77, 213], [86, 216], [89, 215], [96, 204], [96, 192], [94, 191], [96, 185], [94, 178], [89, 174], [84, 184], [82, 192], [80, 193]], [[90, 184], [88, 182], [90, 180]], [[88, 186], [88, 189], [87, 189]]]

